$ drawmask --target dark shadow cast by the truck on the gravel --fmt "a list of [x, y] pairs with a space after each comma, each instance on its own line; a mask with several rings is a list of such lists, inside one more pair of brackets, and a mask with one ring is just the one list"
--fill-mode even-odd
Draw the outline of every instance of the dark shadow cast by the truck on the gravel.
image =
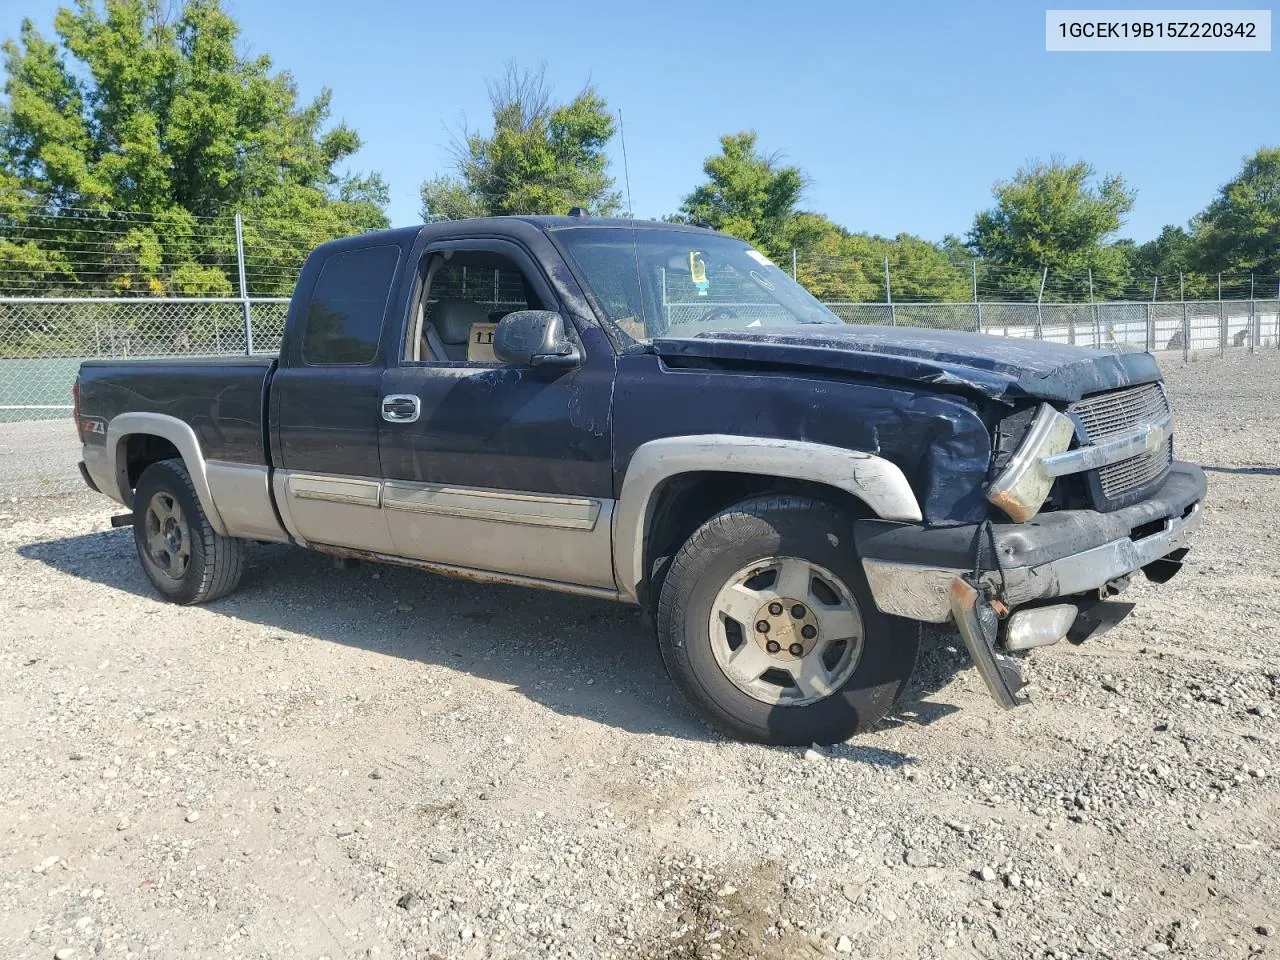
[[[61, 573], [160, 603], [137, 563], [129, 530], [26, 544], [17, 552]], [[329, 557], [285, 545], [251, 545], [247, 559], [239, 589], [207, 609], [462, 671], [515, 687], [557, 713], [634, 733], [719, 740], [671, 686], [635, 607], [396, 566], [342, 570]], [[950, 666], [945, 653], [922, 653], [916, 680], [888, 723], [931, 723], [955, 710], [922, 701], [945, 682], [940, 664]], [[876, 765], [911, 762], [893, 750], [856, 741], [854, 748], [840, 755]]]

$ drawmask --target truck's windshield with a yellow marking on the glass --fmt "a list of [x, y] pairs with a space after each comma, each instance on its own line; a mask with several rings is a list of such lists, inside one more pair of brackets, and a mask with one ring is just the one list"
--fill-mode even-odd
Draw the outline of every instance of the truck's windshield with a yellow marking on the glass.
[[605, 316], [636, 340], [840, 324], [763, 253], [708, 230], [556, 232]]

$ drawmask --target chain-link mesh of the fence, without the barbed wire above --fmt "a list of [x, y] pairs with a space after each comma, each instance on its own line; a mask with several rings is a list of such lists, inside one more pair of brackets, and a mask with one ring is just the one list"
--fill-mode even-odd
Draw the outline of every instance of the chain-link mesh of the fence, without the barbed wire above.
[[[0, 422], [67, 416], [70, 387], [84, 360], [275, 353], [288, 305], [285, 297], [0, 297]], [[669, 308], [675, 315], [681, 306]], [[1277, 300], [827, 306], [849, 324], [1175, 351], [1188, 360], [1280, 347]]]

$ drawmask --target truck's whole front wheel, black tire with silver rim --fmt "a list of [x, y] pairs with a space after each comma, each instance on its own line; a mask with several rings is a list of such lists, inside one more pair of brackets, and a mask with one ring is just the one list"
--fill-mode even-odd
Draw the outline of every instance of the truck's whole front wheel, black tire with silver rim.
[[805, 498], [716, 515], [672, 559], [658, 602], [667, 671], [728, 736], [832, 744], [893, 707], [919, 625], [881, 613], [852, 520]]

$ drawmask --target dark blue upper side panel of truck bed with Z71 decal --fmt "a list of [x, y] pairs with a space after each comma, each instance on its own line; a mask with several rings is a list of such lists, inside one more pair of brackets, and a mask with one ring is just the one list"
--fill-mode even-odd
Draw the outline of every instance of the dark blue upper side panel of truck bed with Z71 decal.
[[164, 413], [191, 424], [206, 458], [266, 463], [266, 389], [276, 358], [91, 360], [81, 365], [81, 420]]

